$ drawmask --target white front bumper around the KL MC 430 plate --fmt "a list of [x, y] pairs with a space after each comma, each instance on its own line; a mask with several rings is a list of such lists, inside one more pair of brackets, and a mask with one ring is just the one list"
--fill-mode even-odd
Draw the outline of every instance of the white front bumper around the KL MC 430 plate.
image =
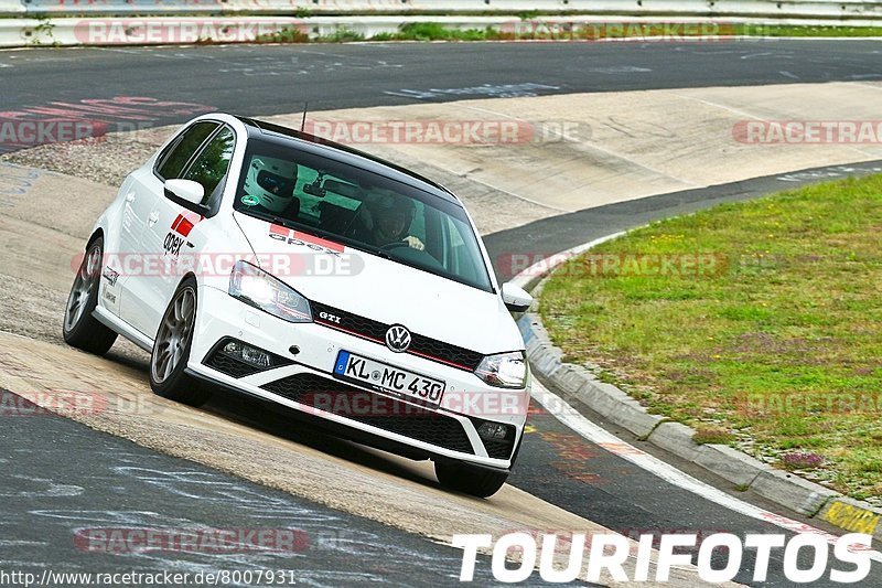
[[[286, 364], [237, 373], [208, 362], [218, 352], [218, 344], [228, 339], [269, 352]], [[289, 351], [294, 346], [297, 354]], [[419, 400], [341, 382], [333, 370], [342, 350], [444, 381], [441, 405], [424, 406]], [[389, 441], [373, 443], [383, 449], [495, 470], [512, 467], [529, 404], [528, 388], [496, 388], [472, 372], [394, 353], [353, 334], [316, 323], [289, 323], [207, 286], [200, 288], [187, 371], [228, 389], [313, 415], [323, 425], [342, 430], [343, 436], [364, 438], [368, 443], [370, 439]], [[485, 421], [503, 424], [510, 432], [504, 441], [485, 441], [477, 431]], [[348, 435], [347, 429], [363, 435]]]

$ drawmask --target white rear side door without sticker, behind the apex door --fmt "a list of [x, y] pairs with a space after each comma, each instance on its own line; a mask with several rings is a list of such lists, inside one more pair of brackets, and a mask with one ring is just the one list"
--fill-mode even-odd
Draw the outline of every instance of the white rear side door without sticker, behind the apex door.
[[[161, 277], [161, 271], [158, 265], [160, 259], [146, 243], [149, 242], [148, 233], [159, 222], [158, 203], [164, 200], [163, 182], [184, 172], [218, 126], [219, 122], [211, 120], [191, 125], [160, 153], [152, 169], [142, 168], [129, 178], [126, 209], [130, 228], [127, 234], [123, 226], [122, 238], [129, 239], [123, 247], [130, 253], [127, 254], [127, 268], [122, 271], [125, 278], [120, 285], [119, 314], [123, 321], [151, 339], [155, 334], [155, 329], [151, 327], [154, 314], [151, 304], [157, 303], [151, 292], [157, 289], [154, 281]], [[123, 214], [123, 225], [126, 223]]]

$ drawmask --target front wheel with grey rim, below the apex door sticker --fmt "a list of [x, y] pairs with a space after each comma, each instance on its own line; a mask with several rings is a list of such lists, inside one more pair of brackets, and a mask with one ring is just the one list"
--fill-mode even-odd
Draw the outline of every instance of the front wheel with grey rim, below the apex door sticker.
[[196, 323], [196, 279], [186, 278], [162, 314], [150, 354], [150, 387], [159, 396], [201, 406], [211, 396], [202, 384], [184, 373]]

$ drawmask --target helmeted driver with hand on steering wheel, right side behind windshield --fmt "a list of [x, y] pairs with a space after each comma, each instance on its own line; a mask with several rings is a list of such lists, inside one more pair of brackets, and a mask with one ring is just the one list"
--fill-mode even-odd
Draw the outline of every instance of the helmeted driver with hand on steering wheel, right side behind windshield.
[[372, 196], [365, 203], [363, 231], [358, 232], [357, 238], [377, 247], [401, 243], [423, 250], [426, 245], [419, 237], [408, 234], [417, 213], [413, 201], [389, 190], [376, 190]]

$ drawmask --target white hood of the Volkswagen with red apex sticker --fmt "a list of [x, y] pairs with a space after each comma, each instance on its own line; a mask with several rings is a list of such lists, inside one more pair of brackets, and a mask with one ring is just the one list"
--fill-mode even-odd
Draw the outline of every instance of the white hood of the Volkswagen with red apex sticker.
[[260, 267], [312, 301], [482, 354], [524, 349], [497, 295], [239, 212], [234, 217]]

